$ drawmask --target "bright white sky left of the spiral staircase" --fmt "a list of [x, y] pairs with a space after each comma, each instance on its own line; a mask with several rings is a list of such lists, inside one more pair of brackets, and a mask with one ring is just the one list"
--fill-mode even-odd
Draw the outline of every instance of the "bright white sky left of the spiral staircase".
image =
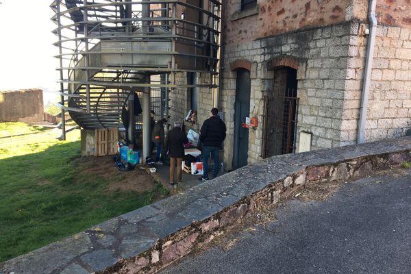
[[[0, 0], [0, 90], [59, 90], [52, 0]], [[54, 97], [45, 92], [44, 97]]]

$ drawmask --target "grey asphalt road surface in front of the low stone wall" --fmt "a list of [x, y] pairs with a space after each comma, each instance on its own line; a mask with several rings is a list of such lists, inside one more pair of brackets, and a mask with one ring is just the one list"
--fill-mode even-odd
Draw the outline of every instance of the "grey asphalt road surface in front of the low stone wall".
[[289, 201], [277, 220], [226, 235], [231, 248], [214, 245], [160, 273], [411, 273], [410, 175], [397, 169], [326, 201]]

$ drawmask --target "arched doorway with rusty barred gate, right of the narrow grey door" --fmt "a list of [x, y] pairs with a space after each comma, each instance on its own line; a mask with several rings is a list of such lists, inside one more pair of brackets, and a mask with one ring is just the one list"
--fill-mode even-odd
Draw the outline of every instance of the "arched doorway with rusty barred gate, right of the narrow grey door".
[[295, 152], [297, 70], [284, 66], [275, 69], [273, 88], [264, 100], [264, 158]]

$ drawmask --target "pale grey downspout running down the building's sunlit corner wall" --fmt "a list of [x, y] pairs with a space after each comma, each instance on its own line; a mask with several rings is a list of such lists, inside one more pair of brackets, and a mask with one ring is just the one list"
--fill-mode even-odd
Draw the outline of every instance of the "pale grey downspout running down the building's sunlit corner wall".
[[373, 55], [375, 46], [375, 34], [377, 32], [377, 18], [375, 17], [375, 5], [377, 0], [369, 1], [369, 21], [371, 23], [370, 36], [368, 47], [366, 49], [366, 64], [364, 72], [364, 82], [362, 84], [362, 97], [360, 108], [360, 121], [358, 121], [358, 137], [357, 143], [361, 144], [365, 139], [365, 122], [366, 122], [366, 110], [368, 108], [368, 98], [371, 84], [371, 71], [373, 69]]

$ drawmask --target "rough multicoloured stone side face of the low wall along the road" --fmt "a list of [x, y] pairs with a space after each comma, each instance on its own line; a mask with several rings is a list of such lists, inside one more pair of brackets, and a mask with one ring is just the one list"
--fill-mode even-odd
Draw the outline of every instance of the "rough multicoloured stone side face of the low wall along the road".
[[[330, 182], [337, 179], [359, 179], [371, 175], [373, 171], [387, 169], [411, 159], [409, 149], [348, 159], [338, 159], [338, 156], [334, 158], [333, 155], [322, 154], [325, 156], [324, 162], [319, 160], [318, 155], [310, 155], [309, 153], [302, 155], [301, 162], [296, 163], [296, 167], [300, 168], [299, 171], [268, 184], [249, 197], [243, 197], [234, 205], [208, 219], [193, 223], [180, 232], [167, 236], [164, 240], [159, 240], [155, 247], [142, 255], [129, 260], [120, 260], [112, 268], [100, 273], [155, 273], [174, 260], [186, 256], [195, 247], [206, 245], [216, 236], [223, 234], [227, 227], [245, 221], [259, 211], [272, 208], [279, 201], [286, 201], [305, 184]], [[327, 159], [327, 157], [329, 158]], [[253, 168], [257, 169], [260, 174], [270, 173], [274, 166], [275, 169], [288, 169], [288, 164], [290, 164], [288, 160], [282, 162], [273, 158], [263, 161], [264, 164], [253, 165]], [[305, 161], [312, 162], [313, 165], [305, 168], [299, 166]]]

